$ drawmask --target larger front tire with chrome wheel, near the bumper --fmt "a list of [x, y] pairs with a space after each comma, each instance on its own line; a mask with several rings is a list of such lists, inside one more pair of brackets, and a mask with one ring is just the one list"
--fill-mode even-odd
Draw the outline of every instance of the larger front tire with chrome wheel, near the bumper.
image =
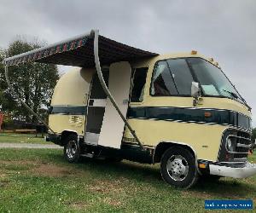
[[183, 147], [171, 147], [163, 154], [161, 176], [174, 187], [189, 188], [198, 180], [194, 155]]

